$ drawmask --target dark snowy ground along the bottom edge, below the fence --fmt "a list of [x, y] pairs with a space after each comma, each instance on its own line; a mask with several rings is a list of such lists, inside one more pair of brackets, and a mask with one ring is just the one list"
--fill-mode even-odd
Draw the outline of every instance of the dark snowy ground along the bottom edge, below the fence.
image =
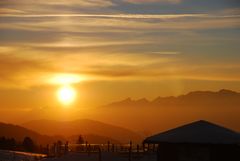
[[[128, 161], [128, 156], [126, 154], [119, 153], [108, 153], [103, 152], [101, 154], [101, 160], [99, 159], [98, 153], [92, 153], [88, 155], [87, 153], [69, 153], [65, 156], [59, 158], [45, 158], [43, 161]], [[134, 155], [132, 161], [156, 161], [156, 155], [145, 154], [141, 156]]]

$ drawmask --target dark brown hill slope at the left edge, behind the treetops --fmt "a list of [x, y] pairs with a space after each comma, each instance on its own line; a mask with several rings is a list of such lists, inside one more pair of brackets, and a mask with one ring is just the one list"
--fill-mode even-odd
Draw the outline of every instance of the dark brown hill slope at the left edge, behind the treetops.
[[35, 143], [42, 145], [53, 143], [57, 139], [60, 139], [57, 137], [40, 135], [24, 127], [5, 123], [0, 123], [0, 137], [15, 138], [17, 141], [23, 141], [25, 137], [30, 137]]

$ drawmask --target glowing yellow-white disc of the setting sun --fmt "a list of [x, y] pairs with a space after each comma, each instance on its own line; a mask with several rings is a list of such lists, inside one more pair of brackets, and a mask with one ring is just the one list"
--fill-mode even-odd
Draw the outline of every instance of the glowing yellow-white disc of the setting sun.
[[76, 91], [71, 86], [63, 86], [58, 90], [57, 96], [62, 104], [69, 105], [74, 102]]

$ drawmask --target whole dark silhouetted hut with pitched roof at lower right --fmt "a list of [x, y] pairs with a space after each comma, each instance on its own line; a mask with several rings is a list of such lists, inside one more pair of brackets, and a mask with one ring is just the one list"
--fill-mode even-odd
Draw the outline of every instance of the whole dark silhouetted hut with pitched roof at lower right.
[[158, 145], [158, 161], [240, 161], [240, 134], [207, 122], [193, 122], [144, 140]]

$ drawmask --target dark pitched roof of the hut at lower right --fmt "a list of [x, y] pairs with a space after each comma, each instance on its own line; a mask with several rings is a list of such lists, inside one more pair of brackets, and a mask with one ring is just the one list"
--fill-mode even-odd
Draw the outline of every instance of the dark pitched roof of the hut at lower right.
[[239, 144], [240, 134], [219, 125], [200, 120], [148, 137], [144, 142]]

